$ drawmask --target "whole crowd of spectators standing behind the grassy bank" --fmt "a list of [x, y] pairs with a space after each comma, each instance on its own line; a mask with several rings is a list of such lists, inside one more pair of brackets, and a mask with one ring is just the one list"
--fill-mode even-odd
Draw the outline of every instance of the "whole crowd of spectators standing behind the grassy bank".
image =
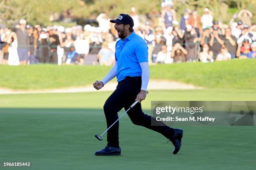
[[[214, 20], [208, 8], [202, 15], [186, 9], [178, 22], [172, 0], [165, 0], [156, 23], [141, 22], [135, 7], [129, 15], [134, 31], [148, 45], [149, 64], [256, 58], [256, 24], [248, 10], [241, 10], [223, 24]], [[115, 42], [119, 40], [114, 24], [105, 13], [96, 20], [98, 27], [87, 24], [44, 28], [27, 25], [24, 19], [14, 28], [2, 25], [0, 64], [113, 65]]]

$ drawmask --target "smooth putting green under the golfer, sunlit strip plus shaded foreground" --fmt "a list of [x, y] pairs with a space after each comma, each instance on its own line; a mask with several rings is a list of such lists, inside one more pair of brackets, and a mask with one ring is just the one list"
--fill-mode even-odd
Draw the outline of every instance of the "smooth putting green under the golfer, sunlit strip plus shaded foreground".
[[[0, 95], [0, 169], [35, 170], [254, 170], [255, 126], [181, 126], [182, 149], [161, 134], [120, 120], [121, 156], [95, 156], [106, 145], [102, 106], [111, 92]], [[255, 90], [152, 90], [151, 100], [256, 100]], [[120, 111], [123, 113], [123, 110]], [[31, 168], [3, 168], [29, 161]]]

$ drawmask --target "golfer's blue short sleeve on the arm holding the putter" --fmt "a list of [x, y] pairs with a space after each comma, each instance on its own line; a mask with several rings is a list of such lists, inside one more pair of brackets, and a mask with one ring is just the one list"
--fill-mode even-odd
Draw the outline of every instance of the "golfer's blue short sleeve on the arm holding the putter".
[[148, 46], [145, 42], [140, 42], [136, 45], [135, 55], [138, 62], [148, 62]]

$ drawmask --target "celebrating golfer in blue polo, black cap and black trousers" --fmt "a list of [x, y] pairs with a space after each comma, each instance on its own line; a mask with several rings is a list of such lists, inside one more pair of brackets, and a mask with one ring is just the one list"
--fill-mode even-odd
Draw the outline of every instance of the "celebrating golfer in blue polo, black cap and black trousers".
[[[181, 148], [183, 130], [170, 128], [163, 122], [157, 121], [155, 117], [145, 115], [141, 109], [140, 102], [146, 98], [149, 80], [148, 47], [145, 40], [133, 31], [133, 19], [129, 15], [120, 14], [116, 20], [110, 20], [110, 22], [115, 23], [115, 30], [120, 37], [115, 45], [115, 65], [101, 81], [97, 80], [93, 83], [95, 89], [100, 90], [107, 82], [117, 77], [118, 86], [104, 105], [107, 127], [118, 119], [118, 112], [122, 108], [127, 110], [135, 100], [138, 100], [138, 104], [127, 112], [133, 124], [164, 135], [172, 141], [173, 153], [177, 154]], [[108, 145], [96, 151], [95, 155], [121, 155], [118, 127], [119, 124], [116, 122], [108, 130]]]

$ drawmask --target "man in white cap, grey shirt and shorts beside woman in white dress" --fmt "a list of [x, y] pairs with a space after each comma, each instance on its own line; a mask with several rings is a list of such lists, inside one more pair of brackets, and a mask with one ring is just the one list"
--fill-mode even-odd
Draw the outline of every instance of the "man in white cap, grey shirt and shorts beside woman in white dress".
[[26, 65], [28, 62], [29, 37], [26, 30], [26, 25], [26, 20], [21, 19], [20, 25], [15, 28], [18, 39], [18, 56], [20, 60], [20, 65]]

